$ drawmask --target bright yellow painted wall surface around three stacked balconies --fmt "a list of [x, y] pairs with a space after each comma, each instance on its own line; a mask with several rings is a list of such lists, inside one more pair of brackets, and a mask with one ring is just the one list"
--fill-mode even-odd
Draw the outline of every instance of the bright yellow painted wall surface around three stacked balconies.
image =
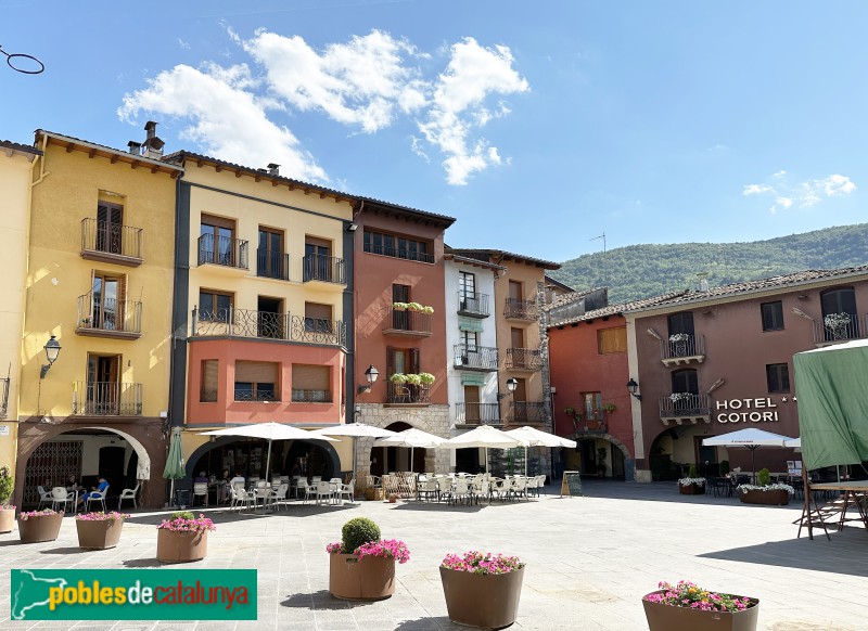
[[[37, 412], [42, 347], [56, 335], [62, 350], [41, 383], [39, 409], [62, 418], [72, 411], [73, 382], [87, 379], [87, 356], [122, 356], [119, 381], [142, 384], [143, 416], [168, 409], [176, 181], [169, 175], [112, 164], [107, 158], [49, 144], [33, 189], [26, 324], [22, 347], [22, 416]], [[124, 226], [143, 229], [138, 268], [81, 258], [81, 220], [97, 217], [98, 198], [124, 206]], [[77, 335], [78, 297], [92, 270], [125, 275], [126, 298], [142, 302], [139, 339]]]

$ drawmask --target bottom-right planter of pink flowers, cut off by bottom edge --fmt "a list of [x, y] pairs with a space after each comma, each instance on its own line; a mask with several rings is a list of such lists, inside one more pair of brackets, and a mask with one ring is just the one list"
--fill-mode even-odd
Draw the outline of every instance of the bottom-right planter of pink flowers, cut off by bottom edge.
[[650, 631], [753, 631], [760, 601], [710, 592], [688, 581], [661, 582], [642, 597]]

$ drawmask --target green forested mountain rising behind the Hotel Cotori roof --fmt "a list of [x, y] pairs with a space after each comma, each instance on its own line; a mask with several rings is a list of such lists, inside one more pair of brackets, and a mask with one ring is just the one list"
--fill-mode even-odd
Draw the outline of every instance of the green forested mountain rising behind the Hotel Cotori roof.
[[839, 226], [750, 243], [630, 245], [562, 263], [550, 275], [576, 289], [609, 287], [616, 304], [666, 292], [711, 286], [807, 269], [868, 265], [868, 223]]

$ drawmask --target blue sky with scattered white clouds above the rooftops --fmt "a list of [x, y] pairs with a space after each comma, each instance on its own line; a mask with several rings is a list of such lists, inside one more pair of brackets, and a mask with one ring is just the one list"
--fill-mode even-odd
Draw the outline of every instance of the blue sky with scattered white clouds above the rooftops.
[[[81, 7], [88, 7], [82, 11]], [[248, 8], [250, 7], [250, 8]], [[0, 0], [0, 138], [187, 149], [456, 217], [447, 242], [607, 246], [866, 221], [868, 5]], [[0, 60], [2, 62], [2, 60]]]

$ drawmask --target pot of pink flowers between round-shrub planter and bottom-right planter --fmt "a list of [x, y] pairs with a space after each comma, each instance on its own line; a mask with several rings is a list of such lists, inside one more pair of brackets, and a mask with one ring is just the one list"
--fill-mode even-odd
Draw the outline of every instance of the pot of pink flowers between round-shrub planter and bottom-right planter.
[[516, 556], [475, 550], [447, 554], [441, 563], [441, 581], [449, 620], [477, 629], [515, 622], [524, 565]]

